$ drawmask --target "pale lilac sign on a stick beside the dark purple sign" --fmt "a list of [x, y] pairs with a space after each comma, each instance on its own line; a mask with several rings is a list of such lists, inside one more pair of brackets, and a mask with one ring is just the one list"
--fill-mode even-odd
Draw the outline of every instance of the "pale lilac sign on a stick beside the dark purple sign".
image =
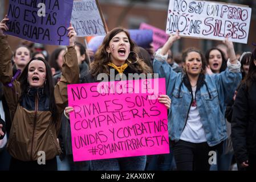
[[105, 35], [106, 32], [95, 0], [74, 1], [71, 24], [78, 36]]

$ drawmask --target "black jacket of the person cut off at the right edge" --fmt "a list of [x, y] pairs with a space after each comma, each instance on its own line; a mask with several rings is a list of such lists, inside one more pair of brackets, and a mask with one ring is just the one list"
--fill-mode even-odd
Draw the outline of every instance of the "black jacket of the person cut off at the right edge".
[[242, 84], [233, 105], [231, 137], [234, 154], [241, 164], [256, 154], [256, 81], [247, 88]]

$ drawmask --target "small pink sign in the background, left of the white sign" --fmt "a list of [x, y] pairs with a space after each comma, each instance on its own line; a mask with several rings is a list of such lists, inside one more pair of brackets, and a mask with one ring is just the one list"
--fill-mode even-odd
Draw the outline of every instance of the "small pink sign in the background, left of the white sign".
[[168, 39], [168, 35], [166, 34], [166, 32], [164, 30], [161, 30], [160, 28], [157, 28], [157, 27], [153, 27], [150, 24], [141, 23], [140, 29], [153, 31], [153, 47], [155, 48], [155, 51], [159, 47], [164, 46], [165, 42]]

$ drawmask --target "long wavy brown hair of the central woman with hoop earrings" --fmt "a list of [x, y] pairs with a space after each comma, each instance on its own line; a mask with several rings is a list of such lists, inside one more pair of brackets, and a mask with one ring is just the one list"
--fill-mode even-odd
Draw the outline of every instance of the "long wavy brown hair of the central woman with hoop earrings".
[[[91, 63], [91, 69], [90, 73], [92, 76], [97, 76], [99, 73], [107, 73], [109, 74], [109, 57], [108, 57], [108, 52], [107, 47], [109, 46], [109, 42], [111, 39], [119, 34], [120, 32], [125, 32], [129, 39], [130, 43], [130, 50], [129, 51], [134, 51], [134, 52], [139, 52], [139, 48], [136, 46], [136, 44], [133, 42], [131, 39], [128, 31], [124, 30], [124, 28], [113, 28], [108, 34], [105, 36], [101, 46], [99, 49], [97, 49], [95, 56], [94, 56], [94, 61]], [[131, 60], [132, 62], [135, 62], [138, 59], [135, 53], [131, 53], [128, 56], [128, 60]], [[138, 59], [137, 63], [135, 64], [130, 64], [127, 63], [129, 67], [131, 67], [133, 70], [135, 70], [137, 73], [152, 73], [152, 69], [148, 67], [147, 64], [144, 63], [143, 60]]]

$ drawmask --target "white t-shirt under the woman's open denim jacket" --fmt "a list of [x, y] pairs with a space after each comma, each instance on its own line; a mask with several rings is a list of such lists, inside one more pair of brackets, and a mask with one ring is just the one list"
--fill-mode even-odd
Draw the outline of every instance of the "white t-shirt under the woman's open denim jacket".
[[[192, 91], [193, 98], [196, 98], [196, 86], [192, 87]], [[196, 100], [194, 100], [190, 106], [188, 120], [186, 121], [186, 126], [182, 131], [180, 139], [192, 143], [202, 143], [207, 141], [204, 128], [202, 127]]]

